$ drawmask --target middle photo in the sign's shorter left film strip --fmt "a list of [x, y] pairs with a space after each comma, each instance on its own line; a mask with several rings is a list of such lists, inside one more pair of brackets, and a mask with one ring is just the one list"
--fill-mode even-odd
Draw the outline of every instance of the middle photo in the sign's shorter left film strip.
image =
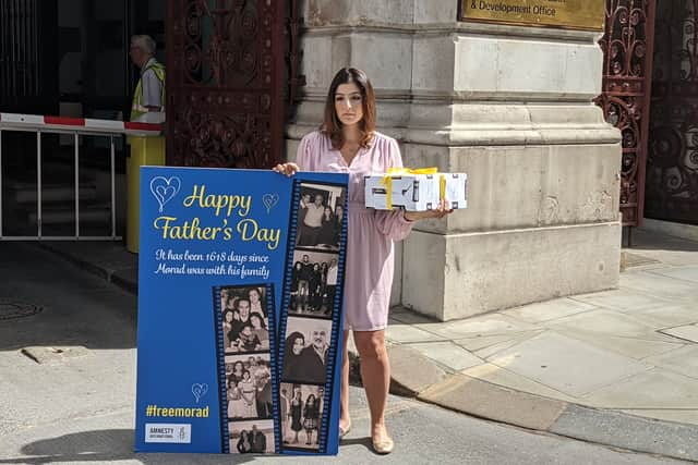
[[272, 418], [269, 354], [226, 355], [228, 419]]

